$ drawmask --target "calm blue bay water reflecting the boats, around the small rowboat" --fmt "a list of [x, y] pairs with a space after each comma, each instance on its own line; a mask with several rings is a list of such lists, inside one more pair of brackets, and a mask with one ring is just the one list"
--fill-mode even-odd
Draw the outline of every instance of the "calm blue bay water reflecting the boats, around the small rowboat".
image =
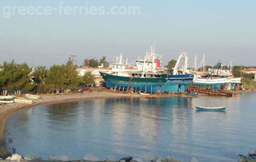
[[[197, 112], [194, 106], [227, 106]], [[235, 98], [113, 98], [43, 105], [8, 122], [17, 154], [48, 159], [174, 155], [182, 161], [237, 161], [256, 147], [256, 94]]]

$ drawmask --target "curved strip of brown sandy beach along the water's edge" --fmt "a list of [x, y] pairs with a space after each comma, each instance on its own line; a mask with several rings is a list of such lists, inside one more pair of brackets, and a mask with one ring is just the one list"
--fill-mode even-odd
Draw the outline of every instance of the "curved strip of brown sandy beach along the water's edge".
[[21, 111], [26, 108], [36, 107], [42, 104], [55, 104], [65, 101], [80, 101], [88, 98], [138, 98], [143, 97], [138, 94], [127, 94], [122, 92], [84, 92], [84, 93], [75, 93], [75, 94], [62, 94], [62, 95], [40, 95], [41, 98], [34, 100], [34, 104], [2, 104], [0, 105], [0, 157], [6, 158], [11, 154], [8, 152], [5, 139], [7, 132], [7, 122], [9, 118], [16, 114], [18, 111]]

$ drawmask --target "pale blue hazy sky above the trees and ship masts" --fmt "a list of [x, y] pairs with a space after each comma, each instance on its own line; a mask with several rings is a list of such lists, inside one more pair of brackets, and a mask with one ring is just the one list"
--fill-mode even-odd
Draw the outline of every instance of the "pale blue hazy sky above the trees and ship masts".
[[[14, 7], [113, 6], [140, 8], [139, 14], [17, 14]], [[11, 9], [10, 9], [11, 8]], [[62, 8], [63, 9], [63, 8]], [[121, 12], [122, 10], [120, 10]], [[129, 62], [155, 45], [163, 64], [188, 51], [206, 55], [209, 65], [256, 66], [255, 0], [0, 0], [0, 64], [14, 59], [31, 67], [65, 64], [77, 55], [100, 59], [121, 53]]]

